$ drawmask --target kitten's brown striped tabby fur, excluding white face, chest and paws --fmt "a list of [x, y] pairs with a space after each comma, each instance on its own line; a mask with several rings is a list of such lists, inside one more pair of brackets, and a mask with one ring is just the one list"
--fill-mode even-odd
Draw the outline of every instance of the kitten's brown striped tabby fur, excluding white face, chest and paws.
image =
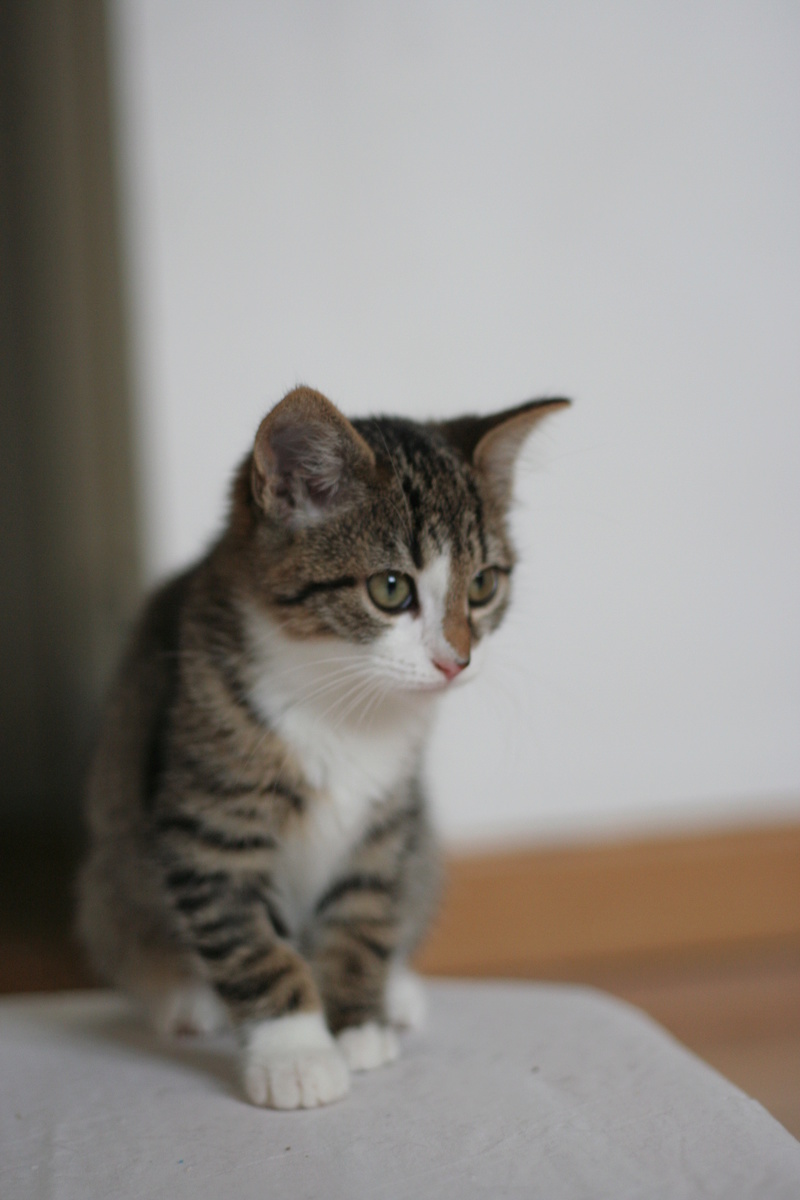
[[[419, 770], [374, 797], [347, 862], [290, 926], [273, 871], [325, 800], [253, 704], [245, 613], [267, 612], [287, 637], [320, 647], [369, 643], [386, 617], [365, 581], [387, 566], [413, 574], [447, 544], [444, 629], [467, 660], [507, 604], [506, 593], [491, 614], [468, 613], [465, 589], [482, 566], [513, 566], [513, 455], [560, 403], [443, 425], [347, 422], [297, 389], [265, 419], [224, 532], [149, 601], [108, 702], [79, 910], [106, 979], [145, 998], [204, 980], [235, 1022], [320, 1007], [333, 1032], [386, 1019], [390, 964], [417, 944], [439, 892]], [[303, 504], [323, 518], [299, 520]]]

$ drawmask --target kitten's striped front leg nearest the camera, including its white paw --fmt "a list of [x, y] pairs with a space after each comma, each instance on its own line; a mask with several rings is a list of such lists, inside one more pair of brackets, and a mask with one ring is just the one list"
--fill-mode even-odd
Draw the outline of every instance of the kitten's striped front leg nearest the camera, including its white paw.
[[347, 1058], [325, 1024], [311, 968], [277, 932], [257, 883], [181, 865], [167, 887], [185, 942], [241, 1028], [253, 1104], [314, 1108], [347, 1094]]

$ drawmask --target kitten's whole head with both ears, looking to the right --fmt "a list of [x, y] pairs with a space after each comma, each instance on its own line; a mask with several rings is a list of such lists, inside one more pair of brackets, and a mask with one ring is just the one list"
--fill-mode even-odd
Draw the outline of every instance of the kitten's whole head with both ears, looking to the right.
[[386, 690], [469, 678], [509, 604], [517, 456], [567, 403], [423, 425], [348, 421], [319, 392], [289, 392], [234, 490], [252, 602], [284, 642], [321, 662], [335, 640]]

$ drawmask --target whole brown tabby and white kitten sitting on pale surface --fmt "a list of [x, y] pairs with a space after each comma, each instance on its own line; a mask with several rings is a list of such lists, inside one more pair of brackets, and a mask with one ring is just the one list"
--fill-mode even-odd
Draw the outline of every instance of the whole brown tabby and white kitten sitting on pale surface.
[[564, 400], [263, 420], [227, 527], [148, 604], [89, 782], [79, 925], [164, 1031], [233, 1020], [255, 1104], [308, 1108], [397, 1057], [439, 887], [432, 706], [509, 604], [516, 455]]

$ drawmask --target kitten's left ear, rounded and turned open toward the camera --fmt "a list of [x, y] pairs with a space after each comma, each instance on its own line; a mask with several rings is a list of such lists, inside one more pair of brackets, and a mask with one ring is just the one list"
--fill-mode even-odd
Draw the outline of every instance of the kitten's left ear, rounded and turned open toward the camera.
[[295, 388], [258, 427], [253, 494], [265, 512], [289, 524], [314, 524], [353, 500], [374, 461], [330, 400]]

